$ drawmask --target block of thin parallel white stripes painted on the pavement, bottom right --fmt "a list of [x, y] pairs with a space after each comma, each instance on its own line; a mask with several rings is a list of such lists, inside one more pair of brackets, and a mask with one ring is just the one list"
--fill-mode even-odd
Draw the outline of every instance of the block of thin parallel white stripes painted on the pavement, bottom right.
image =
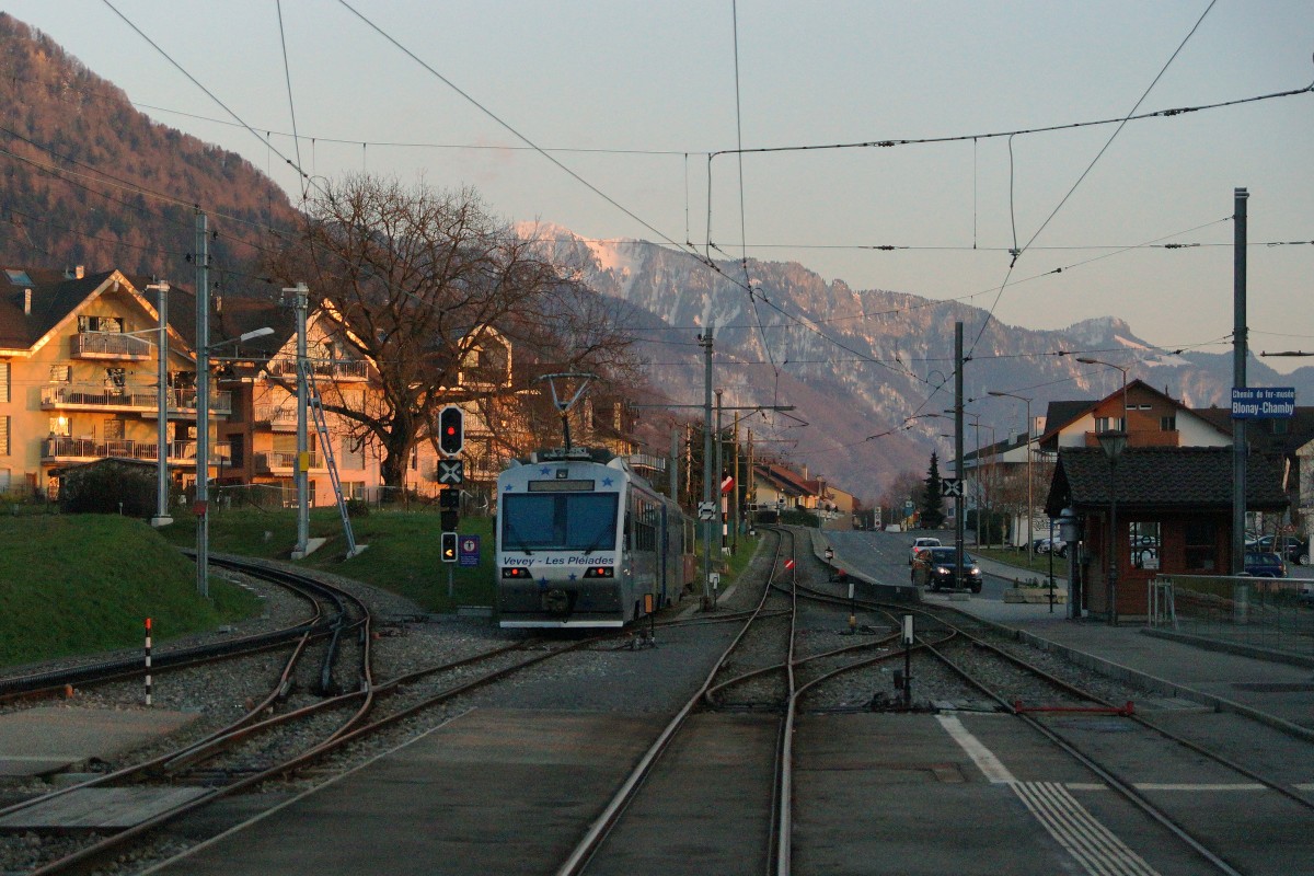
[[1014, 781], [1013, 793], [1092, 876], [1159, 876], [1056, 781]]

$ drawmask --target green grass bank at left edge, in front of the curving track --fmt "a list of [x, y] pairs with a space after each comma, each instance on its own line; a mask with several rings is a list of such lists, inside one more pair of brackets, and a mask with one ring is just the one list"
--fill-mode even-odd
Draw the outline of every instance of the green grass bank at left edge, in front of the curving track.
[[0, 517], [0, 665], [141, 647], [260, 611], [222, 580], [196, 594], [196, 566], [148, 524], [112, 515]]

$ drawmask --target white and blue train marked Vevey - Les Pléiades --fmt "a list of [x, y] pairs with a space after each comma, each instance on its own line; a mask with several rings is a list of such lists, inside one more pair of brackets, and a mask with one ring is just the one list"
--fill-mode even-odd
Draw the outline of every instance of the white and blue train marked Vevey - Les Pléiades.
[[497, 495], [502, 626], [624, 626], [694, 580], [691, 521], [624, 457], [540, 450], [502, 471]]

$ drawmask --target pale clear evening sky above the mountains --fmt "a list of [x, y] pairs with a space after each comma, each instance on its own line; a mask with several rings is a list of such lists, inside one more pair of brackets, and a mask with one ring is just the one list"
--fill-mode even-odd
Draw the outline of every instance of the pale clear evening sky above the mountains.
[[[1230, 351], [1246, 188], [1251, 349], [1314, 351], [1314, 93], [999, 135], [1307, 88], [1307, 0], [3, 8], [293, 201], [298, 165], [470, 185], [509, 221], [799, 261], [1030, 328], [1114, 315], [1169, 349]], [[945, 142], [819, 148], [903, 139]], [[813, 148], [736, 152], [778, 147]]]

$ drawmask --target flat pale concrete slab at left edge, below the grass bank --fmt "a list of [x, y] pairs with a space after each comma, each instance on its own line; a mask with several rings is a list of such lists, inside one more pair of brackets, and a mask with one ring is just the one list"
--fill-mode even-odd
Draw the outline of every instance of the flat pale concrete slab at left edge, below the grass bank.
[[0, 776], [41, 776], [108, 760], [196, 720], [167, 709], [41, 707], [0, 714]]

